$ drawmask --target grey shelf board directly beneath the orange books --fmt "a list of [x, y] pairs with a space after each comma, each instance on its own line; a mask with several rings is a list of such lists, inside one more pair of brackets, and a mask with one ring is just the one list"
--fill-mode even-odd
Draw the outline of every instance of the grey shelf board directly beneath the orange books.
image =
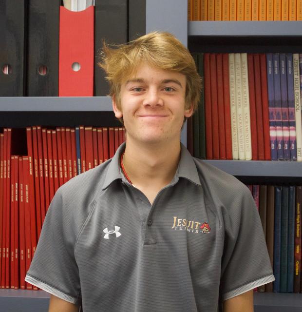
[[302, 21], [189, 21], [189, 36], [302, 37]]

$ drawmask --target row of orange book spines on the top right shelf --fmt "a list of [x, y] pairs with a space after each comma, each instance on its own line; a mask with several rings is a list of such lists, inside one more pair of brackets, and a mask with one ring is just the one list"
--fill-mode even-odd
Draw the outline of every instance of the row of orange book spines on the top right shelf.
[[189, 20], [302, 20], [301, 0], [188, 0]]

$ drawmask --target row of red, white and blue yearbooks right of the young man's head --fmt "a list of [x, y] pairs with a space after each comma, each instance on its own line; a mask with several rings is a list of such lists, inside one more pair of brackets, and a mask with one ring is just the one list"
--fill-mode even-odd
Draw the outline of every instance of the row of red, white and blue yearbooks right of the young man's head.
[[302, 54], [193, 57], [204, 85], [188, 121], [192, 155], [302, 161]]

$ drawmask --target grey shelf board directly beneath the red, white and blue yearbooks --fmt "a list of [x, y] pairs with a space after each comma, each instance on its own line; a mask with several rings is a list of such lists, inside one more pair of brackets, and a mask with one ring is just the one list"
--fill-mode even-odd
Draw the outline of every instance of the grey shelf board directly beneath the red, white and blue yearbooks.
[[203, 160], [232, 176], [301, 177], [301, 161]]

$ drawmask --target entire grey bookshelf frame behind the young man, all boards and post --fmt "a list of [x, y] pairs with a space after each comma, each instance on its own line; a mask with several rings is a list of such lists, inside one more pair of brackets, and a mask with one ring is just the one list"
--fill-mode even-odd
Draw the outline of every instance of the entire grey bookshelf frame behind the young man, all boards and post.
[[[187, 21], [186, 0], [145, 0], [146, 32], [173, 33], [191, 52], [300, 52], [301, 21]], [[159, 9], [160, 8], [160, 9]], [[0, 97], [0, 127], [36, 124], [75, 126], [117, 125], [108, 97], [50, 98]], [[182, 132], [187, 143], [187, 129]], [[302, 163], [205, 160], [243, 179], [301, 183]], [[0, 290], [3, 311], [46, 312], [49, 294], [43, 291]], [[302, 294], [255, 293], [255, 312], [298, 312]], [[27, 310], [26, 310], [27, 309]]]

